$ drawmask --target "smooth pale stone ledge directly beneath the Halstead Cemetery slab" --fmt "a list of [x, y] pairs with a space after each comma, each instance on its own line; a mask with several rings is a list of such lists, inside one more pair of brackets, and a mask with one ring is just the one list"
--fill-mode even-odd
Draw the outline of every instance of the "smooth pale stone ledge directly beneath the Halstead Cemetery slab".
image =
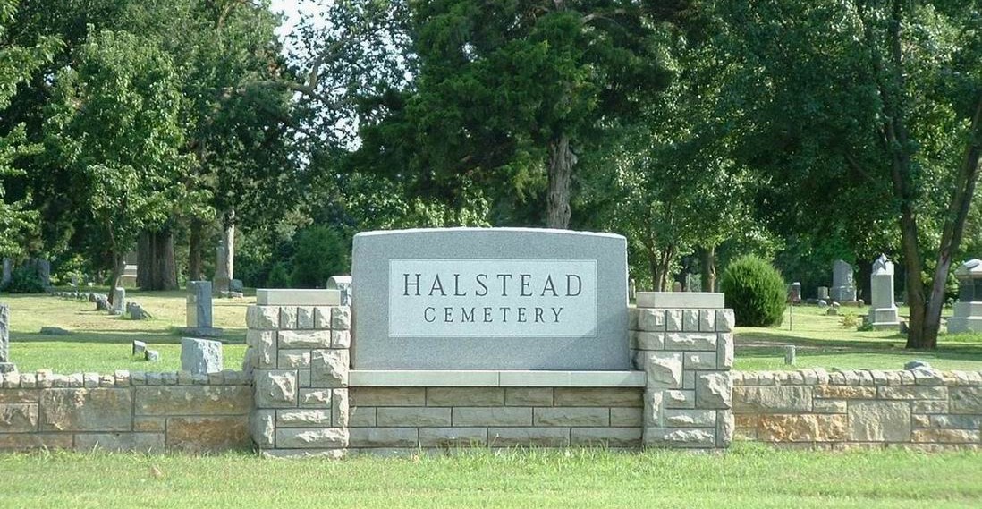
[[352, 387], [644, 387], [644, 371], [359, 369]]

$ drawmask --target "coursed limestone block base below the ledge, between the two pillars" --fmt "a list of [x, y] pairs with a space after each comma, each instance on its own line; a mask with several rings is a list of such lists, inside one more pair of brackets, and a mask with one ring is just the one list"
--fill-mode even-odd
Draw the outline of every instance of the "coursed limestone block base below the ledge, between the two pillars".
[[640, 387], [353, 387], [352, 451], [641, 447]]

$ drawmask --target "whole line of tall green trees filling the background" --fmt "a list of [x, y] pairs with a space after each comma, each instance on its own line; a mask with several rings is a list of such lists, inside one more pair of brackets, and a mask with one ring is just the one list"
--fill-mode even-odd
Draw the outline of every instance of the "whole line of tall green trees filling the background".
[[357, 231], [605, 230], [638, 287], [900, 264], [936, 344], [982, 249], [980, 2], [0, 1], [0, 250], [317, 286]]

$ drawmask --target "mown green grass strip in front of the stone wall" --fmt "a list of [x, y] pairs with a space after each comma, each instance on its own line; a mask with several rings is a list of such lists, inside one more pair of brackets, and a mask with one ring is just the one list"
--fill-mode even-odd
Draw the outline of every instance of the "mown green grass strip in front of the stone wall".
[[[159, 474], [158, 474], [159, 473]], [[107, 453], [0, 456], [0, 506], [980, 507], [982, 454], [467, 452], [342, 461]]]

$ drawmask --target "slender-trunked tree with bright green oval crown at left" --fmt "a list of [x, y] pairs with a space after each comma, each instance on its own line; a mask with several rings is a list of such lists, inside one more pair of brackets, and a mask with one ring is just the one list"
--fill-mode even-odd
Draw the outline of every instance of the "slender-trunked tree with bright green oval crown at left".
[[139, 233], [162, 227], [183, 198], [177, 74], [152, 41], [105, 30], [77, 49], [55, 89], [46, 144], [76, 175], [116, 285]]

